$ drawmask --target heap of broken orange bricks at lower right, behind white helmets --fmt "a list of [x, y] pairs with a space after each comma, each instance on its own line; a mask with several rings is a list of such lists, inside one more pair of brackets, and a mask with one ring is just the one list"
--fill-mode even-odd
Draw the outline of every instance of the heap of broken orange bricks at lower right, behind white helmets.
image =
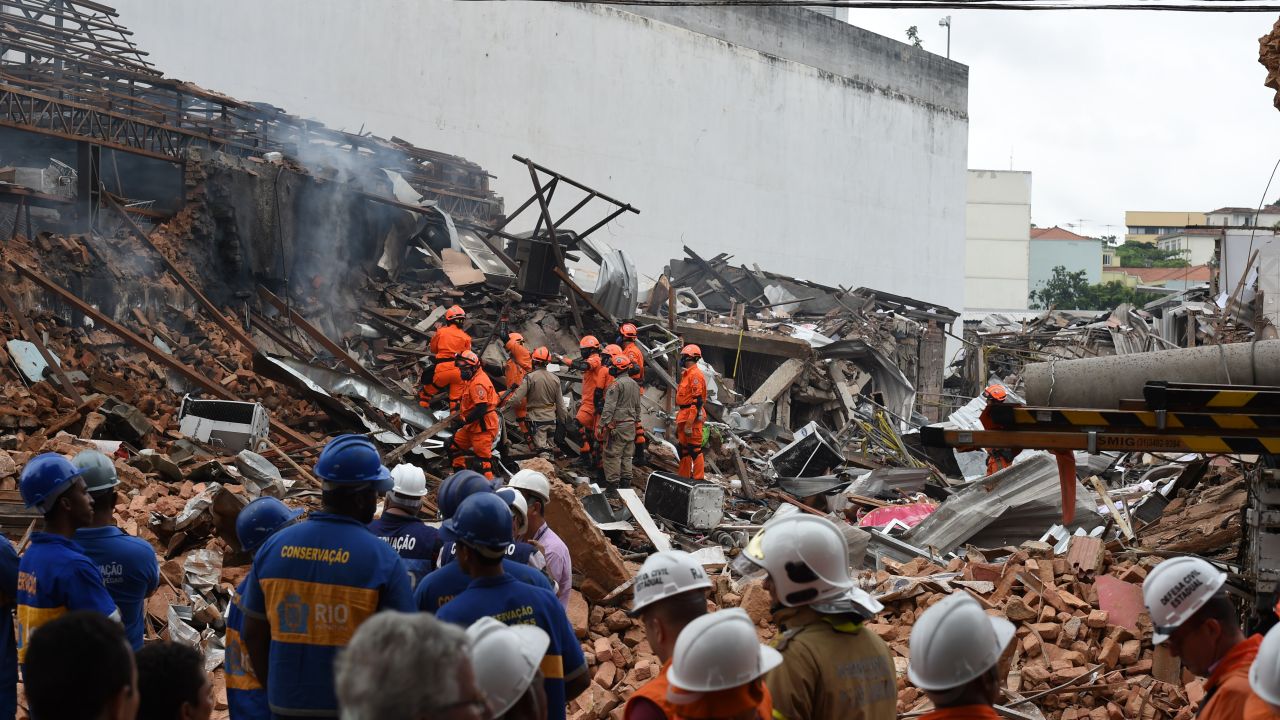
[[[1029, 542], [970, 551], [946, 568], [887, 562], [869, 579], [888, 594], [884, 612], [868, 626], [893, 651], [899, 712], [931, 706], [905, 676], [913, 623], [950, 592], [965, 592], [1018, 626], [1006, 655], [1005, 705], [1021, 711], [1034, 705], [1048, 720], [1188, 720], [1203, 687], [1165, 648], [1152, 647], [1142, 603], [1142, 580], [1158, 560], [1117, 559], [1102, 541], [1074, 537], [1064, 555]], [[1014, 705], [1021, 698], [1030, 703]]]

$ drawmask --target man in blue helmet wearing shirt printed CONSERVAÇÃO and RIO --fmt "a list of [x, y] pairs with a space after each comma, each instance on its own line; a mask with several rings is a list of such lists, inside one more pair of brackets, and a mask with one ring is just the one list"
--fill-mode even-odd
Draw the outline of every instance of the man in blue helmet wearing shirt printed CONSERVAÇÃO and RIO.
[[390, 471], [365, 436], [329, 441], [316, 460], [321, 512], [262, 543], [244, 587], [242, 642], [271, 712], [337, 717], [333, 661], [379, 610], [411, 612], [408, 570], [369, 532]]

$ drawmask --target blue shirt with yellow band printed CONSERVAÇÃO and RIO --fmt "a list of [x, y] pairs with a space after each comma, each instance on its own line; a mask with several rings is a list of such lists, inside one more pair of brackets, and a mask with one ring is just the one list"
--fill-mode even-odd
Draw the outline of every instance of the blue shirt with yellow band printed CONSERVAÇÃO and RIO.
[[379, 610], [413, 611], [396, 551], [344, 515], [312, 512], [262, 543], [241, 610], [271, 626], [266, 693], [276, 715], [338, 716], [333, 661]]

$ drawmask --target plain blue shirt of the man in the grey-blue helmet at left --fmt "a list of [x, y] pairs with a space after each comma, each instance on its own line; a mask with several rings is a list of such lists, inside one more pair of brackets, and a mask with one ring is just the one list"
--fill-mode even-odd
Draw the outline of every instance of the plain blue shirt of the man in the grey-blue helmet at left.
[[81, 528], [76, 530], [76, 542], [97, 564], [106, 592], [120, 609], [124, 634], [133, 650], [140, 650], [146, 632], [142, 615], [146, 612], [147, 597], [160, 587], [156, 551], [147, 541], [131, 537], [115, 525]]

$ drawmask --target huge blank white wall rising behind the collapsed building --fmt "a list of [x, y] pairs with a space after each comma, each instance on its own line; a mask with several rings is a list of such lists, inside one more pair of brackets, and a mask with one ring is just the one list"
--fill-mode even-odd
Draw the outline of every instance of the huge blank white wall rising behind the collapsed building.
[[531, 191], [512, 154], [631, 202], [641, 214], [600, 233], [650, 278], [687, 243], [813, 281], [964, 300], [968, 69], [818, 13], [115, 5], [166, 74], [462, 155], [497, 176], [508, 210]]

